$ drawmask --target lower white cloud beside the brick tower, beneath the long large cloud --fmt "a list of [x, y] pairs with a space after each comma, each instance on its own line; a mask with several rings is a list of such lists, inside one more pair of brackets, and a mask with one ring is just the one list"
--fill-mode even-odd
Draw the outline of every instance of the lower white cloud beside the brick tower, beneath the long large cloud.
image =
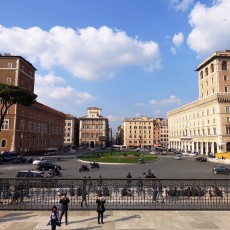
[[95, 99], [87, 92], [80, 92], [63, 84], [65, 84], [64, 79], [53, 73], [45, 76], [36, 75], [35, 93], [38, 95], [38, 101], [49, 106], [57, 106], [60, 101], [63, 105], [71, 103], [81, 105]]

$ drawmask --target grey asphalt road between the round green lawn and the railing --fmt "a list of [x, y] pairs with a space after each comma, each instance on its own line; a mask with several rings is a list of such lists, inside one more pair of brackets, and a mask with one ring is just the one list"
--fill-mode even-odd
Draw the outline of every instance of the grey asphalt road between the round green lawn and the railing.
[[[80, 152], [82, 154], [82, 152]], [[78, 172], [81, 162], [75, 154], [48, 156], [47, 160], [62, 167], [63, 178], [126, 178], [128, 172], [132, 178], [142, 177], [149, 169], [160, 179], [229, 179], [230, 175], [216, 175], [212, 173], [215, 165], [212, 162], [197, 162], [194, 157], [183, 157], [175, 160], [172, 156], [160, 156], [159, 161], [147, 164], [100, 164], [100, 169], [90, 169], [89, 172]], [[230, 166], [229, 166], [230, 167]], [[35, 165], [29, 163], [13, 164], [11, 162], [0, 165], [0, 178], [15, 178], [20, 170], [34, 170]]]

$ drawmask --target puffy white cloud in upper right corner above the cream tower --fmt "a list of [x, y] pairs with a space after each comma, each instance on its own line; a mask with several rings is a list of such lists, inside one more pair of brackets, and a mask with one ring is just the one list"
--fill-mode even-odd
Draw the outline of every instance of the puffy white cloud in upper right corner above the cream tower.
[[197, 3], [189, 15], [192, 27], [187, 43], [198, 56], [229, 49], [230, 1], [214, 1], [211, 7]]

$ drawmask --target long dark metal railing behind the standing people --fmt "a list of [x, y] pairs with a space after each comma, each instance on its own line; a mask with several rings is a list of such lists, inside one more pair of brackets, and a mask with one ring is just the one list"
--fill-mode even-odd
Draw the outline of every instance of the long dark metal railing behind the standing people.
[[[0, 210], [49, 210], [61, 194], [70, 210], [229, 210], [230, 180], [0, 179]], [[83, 201], [83, 202], [82, 202]]]

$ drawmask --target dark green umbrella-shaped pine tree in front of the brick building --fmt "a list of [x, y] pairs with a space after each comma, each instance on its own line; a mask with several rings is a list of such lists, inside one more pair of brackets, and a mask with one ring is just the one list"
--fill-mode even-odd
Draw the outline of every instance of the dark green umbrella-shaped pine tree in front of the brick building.
[[31, 106], [36, 102], [37, 95], [25, 88], [0, 84], [0, 131], [8, 109], [13, 104]]

